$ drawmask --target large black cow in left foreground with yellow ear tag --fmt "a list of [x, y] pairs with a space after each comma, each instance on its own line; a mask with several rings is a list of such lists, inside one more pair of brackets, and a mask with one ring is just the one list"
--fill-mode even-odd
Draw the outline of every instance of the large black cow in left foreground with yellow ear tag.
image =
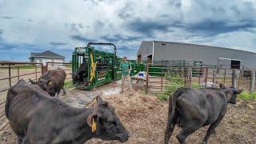
[[84, 143], [90, 138], [126, 142], [129, 132], [108, 102], [74, 108], [46, 91], [20, 81], [6, 98], [5, 114], [18, 143]]

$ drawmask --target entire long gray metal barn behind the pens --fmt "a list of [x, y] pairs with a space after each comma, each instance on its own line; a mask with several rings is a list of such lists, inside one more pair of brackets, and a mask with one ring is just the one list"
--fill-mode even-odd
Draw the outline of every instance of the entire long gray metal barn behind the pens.
[[138, 61], [184, 61], [235, 69], [256, 68], [256, 53], [189, 43], [142, 41], [137, 56]]

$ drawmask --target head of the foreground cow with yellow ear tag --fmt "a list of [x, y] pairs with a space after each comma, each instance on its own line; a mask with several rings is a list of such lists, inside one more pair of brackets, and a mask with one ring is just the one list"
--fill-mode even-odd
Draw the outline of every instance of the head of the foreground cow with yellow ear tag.
[[93, 114], [87, 118], [87, 124], [90, 127], [96, 126], [96, 130], [92, 130], [96, 134], [96, 138], [106, 141], [118, 140], [119, 142], [126, 142], [129, 138], [129, 132], [116, 116], [114, 108], [109, 106], [108, 102], [102, 101], [99, 96]]

